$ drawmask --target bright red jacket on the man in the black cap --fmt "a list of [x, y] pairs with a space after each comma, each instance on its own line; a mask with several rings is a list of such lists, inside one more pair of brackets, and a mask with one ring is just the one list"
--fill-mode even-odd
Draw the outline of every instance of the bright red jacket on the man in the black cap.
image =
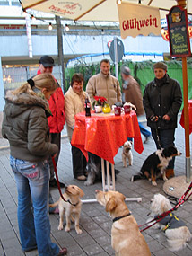
[[[38, 75], [40, 70], [38, 70]], [[55, 79], [56, 80], [56, 79]], [[56, 80], [57, 82], [57, 80]], [[49, 109], [51, 110], [52, 116], [48, 117], [48, 127], [50, 133], [60, 133], [65, 125], [65, 100], [64, 94], [57, 82], [57, 90], [50, 96], [48, 100]]]

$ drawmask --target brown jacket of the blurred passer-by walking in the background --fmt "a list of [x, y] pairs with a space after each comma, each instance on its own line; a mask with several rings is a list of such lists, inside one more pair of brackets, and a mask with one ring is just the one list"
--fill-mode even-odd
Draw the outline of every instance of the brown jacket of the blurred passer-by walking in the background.
[[127, 88], [123, 90], [125, 102], [131, 102], [136, 107], [136, 115], [144, 115], [143, 97], [139, 84], [133, 76], [128, 76]]

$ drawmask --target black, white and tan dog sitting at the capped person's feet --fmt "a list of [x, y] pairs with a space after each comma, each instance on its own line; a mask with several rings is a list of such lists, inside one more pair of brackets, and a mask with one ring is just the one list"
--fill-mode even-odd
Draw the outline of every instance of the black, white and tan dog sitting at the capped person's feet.
[[158, 149], [153, 154], [150, 154], [144, 161], [140, 173], [133, 175], [131, 181], [147, 178], [152, 181], [153, 186], [157, 186], [156, 178], [162, 175], [163, 181], [168, 181], [166, 177], [166, 167], [173, 156], [181, 155], [175, 146], [169, 146], [164, 149]]

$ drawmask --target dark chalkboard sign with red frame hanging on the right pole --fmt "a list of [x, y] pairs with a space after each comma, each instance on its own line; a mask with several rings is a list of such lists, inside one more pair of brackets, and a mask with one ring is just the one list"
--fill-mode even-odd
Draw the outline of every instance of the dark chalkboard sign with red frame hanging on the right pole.
[[188, 36], [187, 11], [180, 6], [173, 6], [167, 15], [170, 56], [191, 56], [190, 42]]

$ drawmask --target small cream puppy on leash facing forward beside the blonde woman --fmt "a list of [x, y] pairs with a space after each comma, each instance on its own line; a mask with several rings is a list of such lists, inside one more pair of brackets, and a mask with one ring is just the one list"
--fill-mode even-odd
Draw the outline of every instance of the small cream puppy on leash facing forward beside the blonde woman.
[[[79, 218], [82, 209], [82, 201], [80, 198], [83, 198], [84, 192], [82, 189], [75, 185], [69, 185], [65, 188], [65, 193], [63, 197], [65, 201], [60, 197], [58, 201], [54, 204], [50, 204], [49, 207], [58, 206], [59, 210], [59, 225], [58, 230], [64, 228], [64, 212], [66, 218], [65, 231], [69, 232], [71, 227], [71, 220], [74, 222], [74, 227], [77, 234], [82, 234], [83, 231], [79, 227]], [[73, 216], [74, 215], [74, 216]]]

